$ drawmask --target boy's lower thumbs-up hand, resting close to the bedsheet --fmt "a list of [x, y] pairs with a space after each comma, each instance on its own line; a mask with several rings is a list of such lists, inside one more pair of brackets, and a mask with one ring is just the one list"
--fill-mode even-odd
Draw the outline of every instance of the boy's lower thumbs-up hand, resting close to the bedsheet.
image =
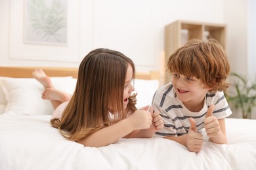
[[199, 152], [203, 146], [203, 136], [196, 129], [196, 121], [189, 118], [190, 128], [186, 138], [186, 147], [190, 152]]

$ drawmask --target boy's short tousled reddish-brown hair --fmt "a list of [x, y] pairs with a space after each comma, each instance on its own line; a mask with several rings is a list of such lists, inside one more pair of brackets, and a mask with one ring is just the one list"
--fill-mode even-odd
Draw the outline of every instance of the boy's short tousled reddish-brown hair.
[[186, 42], [169, 57], [167, 67], [170, 73], [201, 79], [211, 92], [225, 90], [230, 85], [226, 82], [230, 72], [228, 57], [214, 39]]

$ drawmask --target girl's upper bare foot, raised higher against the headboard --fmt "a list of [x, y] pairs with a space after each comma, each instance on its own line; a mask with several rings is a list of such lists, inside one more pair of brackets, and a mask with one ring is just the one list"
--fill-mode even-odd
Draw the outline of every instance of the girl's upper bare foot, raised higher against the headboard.
[[54, 88], [51, 78], [45, 74], [45, 72], [42, 69], [35, 69], [32, 72], [32, 76], [40, 82], [43, 87], [46, 88]]

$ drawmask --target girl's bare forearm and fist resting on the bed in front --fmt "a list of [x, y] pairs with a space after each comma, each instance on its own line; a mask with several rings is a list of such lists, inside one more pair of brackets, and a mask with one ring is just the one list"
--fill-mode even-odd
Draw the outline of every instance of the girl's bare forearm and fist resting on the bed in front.
[[134, 130], [148, 129], [151, 124], [152, 116], [150, 112], [146, 110], [137, 110], [128, 118], [125, 118], [112, 126], [104, 127], [92, 135], [89, 135], [89, 137], [77, 141], [77, 143], [93, 147], [107, 146], [108, 144], [116, 143], [116, 141]]

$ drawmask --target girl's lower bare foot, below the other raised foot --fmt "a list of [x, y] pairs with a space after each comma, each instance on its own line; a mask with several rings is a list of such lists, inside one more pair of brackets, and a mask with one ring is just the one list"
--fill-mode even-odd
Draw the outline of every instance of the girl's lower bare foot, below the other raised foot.
[[55, 88], [46, 88], [42, 93], [42, 99], [48, 99], [51, 101], [69, 101], [72, 95], [69, 93], [62, 92], [60, 90], [56, 90]]

